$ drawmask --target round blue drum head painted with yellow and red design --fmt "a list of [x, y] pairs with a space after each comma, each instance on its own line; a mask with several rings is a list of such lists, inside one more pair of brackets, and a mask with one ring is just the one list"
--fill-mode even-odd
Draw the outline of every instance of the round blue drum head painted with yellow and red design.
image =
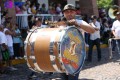
[[76, 74], [85, 60], [85, 43], [82, 33], [75, 27], [67, 29], [61, 40], [63, 65], [69, 74]]

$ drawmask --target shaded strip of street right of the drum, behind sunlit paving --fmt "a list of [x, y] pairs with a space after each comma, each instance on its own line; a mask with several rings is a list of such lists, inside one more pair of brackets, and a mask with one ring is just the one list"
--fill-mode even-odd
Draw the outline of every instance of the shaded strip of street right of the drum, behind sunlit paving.
[[[109, 56], [109, 49], [108, 48], [104, 48], [101, 49], [101, 54], [102, 54], [102, 58], [101, 61], [97, 61], [97, 51], [93, 51], [92, 53], [92, 62], [88, 62], [85, 61], [82, 70], [84, 69], [89, 69], [95, 66], [100, 66], [109, 62], [119, 62], [120, 63], [120, 54], [118, 54], [117, 52], [113, 53], [113, 58], [110, 59]], [[87, 57], [86, 57], [87, 58]]]

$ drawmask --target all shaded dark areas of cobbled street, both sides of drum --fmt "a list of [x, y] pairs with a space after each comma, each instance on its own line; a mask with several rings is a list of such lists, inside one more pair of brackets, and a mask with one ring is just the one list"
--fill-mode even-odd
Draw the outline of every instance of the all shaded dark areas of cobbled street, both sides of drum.
[[[113, 54], [113, 59], [109, 59], [109, 51], [108, 48], [102, 49], [102, 59], [100, 62], [97, 61], [97, 51], [93, 52], [93, 60], [91, 63], [87, 63], [85, 61], [82, 70], [89, 69], [95, 66], [100, 66], [109, 62], [119, 62], [120, 63], [120, 55], [117, 53]], [[35, 73], [32, 78], [30, 78], [30, 74], [32, 71], [28, 68], [27, 64], [19, 64], [15, 65], [18, 69], [16, 71], [8, 71], [5, 74], [0, 75], [0, 80], [64, 80], [60, 77], [59, 73], [49, 74], [49, 73]], [[79, 80], [93, 80], [81, 78]]]

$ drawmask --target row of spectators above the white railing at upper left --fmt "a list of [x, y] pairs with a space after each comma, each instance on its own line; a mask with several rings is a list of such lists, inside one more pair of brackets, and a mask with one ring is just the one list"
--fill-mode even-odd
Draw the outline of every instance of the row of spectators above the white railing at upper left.
[[[23, 9], [24, 7], [24, 9]], [[62, 15], [62, 6], [60, 3], [52, 3], [46, 7], [46, 4], [39, 4], [36, 1], [27, 0], [22, 5], [15, 5], [16, 14], [22, 14], [23, 11], [27, 11], [28, 14], [57, 14]], [[77, 14], [80, 14], [79, 8], [77, 8]]]

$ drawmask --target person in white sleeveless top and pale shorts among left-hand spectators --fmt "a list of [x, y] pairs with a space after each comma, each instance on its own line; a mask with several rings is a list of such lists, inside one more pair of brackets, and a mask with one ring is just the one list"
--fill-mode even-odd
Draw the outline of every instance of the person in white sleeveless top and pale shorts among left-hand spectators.
[[6, 26], [4, 28], [4, 34], [7, 38], [7, 46], [8, 46], [8, 53], [9, 53], [9, 57], [10, 57], [10, 60], [9, 60], [9, 69], [10, 70], [17, 70], [17, 68], [14, 68], [13, 65], [12, 65], [12, 60], [14, 59], [14, 50], [13, 50], [13, 39], [12, 39], [12, 36], [15, 35], [14, 33], [14, 27], [13, 27], [13, 24], [11, 23], [11, 18], [12, 17], [8, 17], [6, 19]]

